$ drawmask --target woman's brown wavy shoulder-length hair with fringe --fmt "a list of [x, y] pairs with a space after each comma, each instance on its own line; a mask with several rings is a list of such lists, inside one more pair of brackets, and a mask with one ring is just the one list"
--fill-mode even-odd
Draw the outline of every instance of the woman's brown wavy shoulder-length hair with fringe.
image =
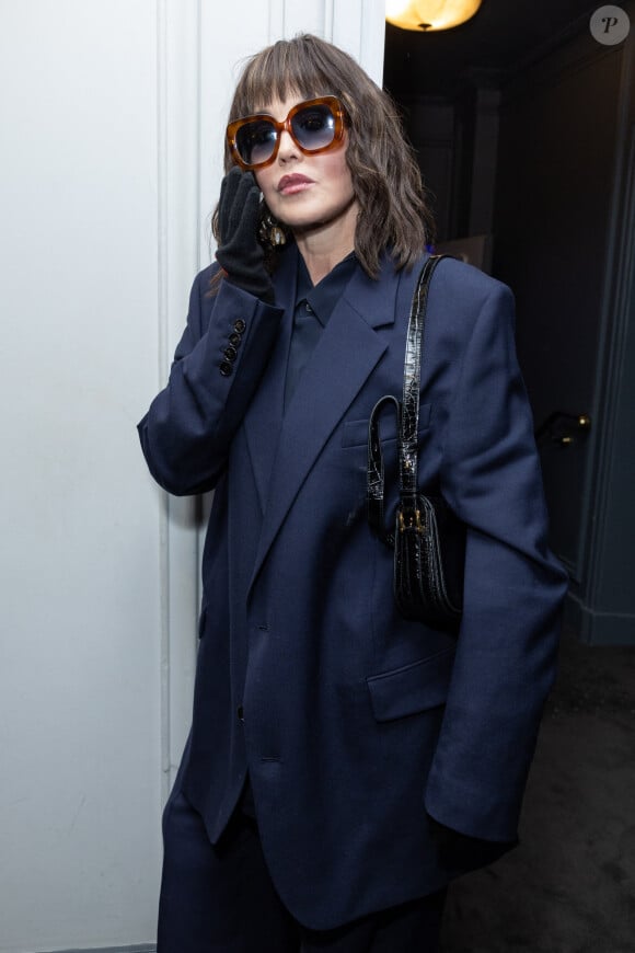
[[[377, 278], [388, 250], [397, 268], [411, 267], [434, 238], [426, 190], [400, 112], [347, 53], [311, 34], [280, 39], [250, 57], [242, 70], [228, 122], [250, 115], [274, 99], [335, 95], [346, 111], [346, 161], [359, 204], [355, 251]], [[226, 143], [224, 168], [232, 167]], [[263, 203], [262, 217], [270, 219]], [[218, 207], [212, 217], [218, 234]], [[276, 249], [266, 248], [275, 268]]]

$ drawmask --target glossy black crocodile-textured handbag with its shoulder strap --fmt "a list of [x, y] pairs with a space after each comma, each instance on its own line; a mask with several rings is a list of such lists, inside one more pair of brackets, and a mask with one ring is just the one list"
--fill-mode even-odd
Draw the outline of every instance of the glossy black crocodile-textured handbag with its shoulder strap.
[[[463, 608], [465, 526], [441, 493], [417, 487], [419, 383], [428, 288], [443, 255], [426, 260], [418, 277], [406, 336], [403, 398], [389, 394], [372, 409], [368, 430], [368, 521], [394, 550], [393, 589], [406, 619], [455, 633]], [[399, 504], [394, 529], [384, 528], [384, 467], [379, 415], [393, 404], [397, 421]]]

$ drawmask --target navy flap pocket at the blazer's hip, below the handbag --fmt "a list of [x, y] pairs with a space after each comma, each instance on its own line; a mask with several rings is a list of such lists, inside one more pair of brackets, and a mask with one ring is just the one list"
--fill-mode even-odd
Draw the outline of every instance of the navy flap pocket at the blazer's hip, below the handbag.
[[388, 722], [443, 704], [454, 650], [366, 679], [376, 721]]

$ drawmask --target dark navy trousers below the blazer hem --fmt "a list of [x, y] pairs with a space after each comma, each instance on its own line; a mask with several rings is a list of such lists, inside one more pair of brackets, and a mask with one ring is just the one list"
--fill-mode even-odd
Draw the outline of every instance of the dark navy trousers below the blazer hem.
[[298, 923], [278, 897], [257, 824], [240, 807], [218, 845], [174, 792], [163, 817], [158, 953], [437, 953], [446, 891], [334, 930]]

